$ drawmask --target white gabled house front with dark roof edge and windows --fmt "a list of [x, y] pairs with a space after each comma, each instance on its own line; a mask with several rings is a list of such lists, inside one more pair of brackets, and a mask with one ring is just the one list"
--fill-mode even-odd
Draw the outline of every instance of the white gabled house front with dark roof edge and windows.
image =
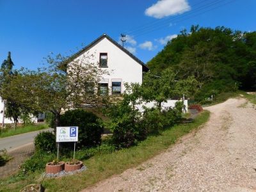
[[74, 54], [70, 60], [83, 60], [89, 55], [92, 55], [90, 62], [97, 63], [99, 68], [106, 71], [98, 84], [101, 93], [120, 95], [124, 93], [124, 83], [141, 84], [143, 73], [149, 70], [145, 63], [106, 34]]

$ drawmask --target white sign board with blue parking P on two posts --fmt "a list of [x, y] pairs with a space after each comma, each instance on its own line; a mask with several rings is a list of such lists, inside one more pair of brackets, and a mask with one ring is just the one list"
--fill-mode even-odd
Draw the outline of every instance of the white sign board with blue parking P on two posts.
[[78, 127], [56, 127], [56, 142], [77, 142]]

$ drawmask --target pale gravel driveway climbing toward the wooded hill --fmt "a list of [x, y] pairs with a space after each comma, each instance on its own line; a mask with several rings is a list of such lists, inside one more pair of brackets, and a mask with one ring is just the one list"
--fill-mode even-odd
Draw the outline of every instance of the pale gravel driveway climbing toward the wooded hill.
[[84, 191], [256, 191], [256, 110], [245, 99], [205, 109], [207, 124], [137, 168]]

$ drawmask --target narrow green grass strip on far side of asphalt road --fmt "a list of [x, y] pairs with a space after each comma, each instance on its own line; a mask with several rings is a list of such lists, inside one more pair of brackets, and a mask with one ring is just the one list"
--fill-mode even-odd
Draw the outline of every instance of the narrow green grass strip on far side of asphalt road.
[[3, 132], [0, 131], [0, 138], [6, 138], [9, 136], [13, 136], [16, 134], [22, 134], [25, 132], [38, 131], [41, 129], [46, 129], [47, 127], [48, 127], [47, 124], [38, 124], [38, 125], [26, 125], [24, 127], [16, 127], [16, 129], [10, 128]]

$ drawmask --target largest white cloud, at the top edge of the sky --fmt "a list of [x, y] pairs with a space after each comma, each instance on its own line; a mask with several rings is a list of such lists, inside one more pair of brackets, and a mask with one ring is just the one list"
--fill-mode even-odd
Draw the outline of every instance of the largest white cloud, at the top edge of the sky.
[[156, 4], [152, 4], [145, 14], [150, 17], [161, 19], [170, 15], [182, 14], [191, 10], [188, 0], [159, 0]]

